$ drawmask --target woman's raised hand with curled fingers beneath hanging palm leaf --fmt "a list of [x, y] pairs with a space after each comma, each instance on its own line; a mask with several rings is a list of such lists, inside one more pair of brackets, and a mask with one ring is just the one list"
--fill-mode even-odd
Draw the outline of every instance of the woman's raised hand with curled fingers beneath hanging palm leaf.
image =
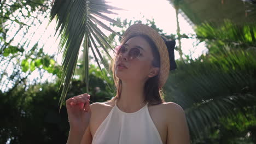
[[85, 93], [66, 100], [68, 121], [71, 131], [84, 133], [91, 117], [90, 95]]

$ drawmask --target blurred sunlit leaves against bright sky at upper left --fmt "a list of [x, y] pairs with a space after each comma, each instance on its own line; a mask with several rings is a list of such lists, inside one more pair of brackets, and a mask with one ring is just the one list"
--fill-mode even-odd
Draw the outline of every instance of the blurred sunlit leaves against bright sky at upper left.
[[[42, 27], [50, 12], [51, 1], [0, 2], [0, 89], [12, 91], [18, 85], [25, 89], [42, 81], [43, 73], [59, 74], [59, 65], [43, 51], [49, 35], [43, 37]], [[37, 36], [37, 37], [36, 37]], [[34, 73], [38, 77], [31, 79]], [[41, 76], [41, 77], [40, 77]]]

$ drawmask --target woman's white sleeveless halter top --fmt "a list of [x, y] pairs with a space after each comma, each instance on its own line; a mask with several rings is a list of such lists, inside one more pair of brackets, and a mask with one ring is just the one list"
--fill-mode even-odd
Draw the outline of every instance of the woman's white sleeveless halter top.
[[133, 113], [114, 105], [98, 127], [92, 144], [162, 144], [161, 137], [149, 115], [148, 103]]

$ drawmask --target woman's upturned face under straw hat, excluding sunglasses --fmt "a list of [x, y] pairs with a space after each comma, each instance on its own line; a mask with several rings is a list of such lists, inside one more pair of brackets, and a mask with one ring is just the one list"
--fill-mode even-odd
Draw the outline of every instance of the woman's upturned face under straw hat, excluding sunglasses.
[[[132, 37], [124, 44], [126, 51], [115, 60], [115, 76], [122, 81], [146, 82], [149, 77], [158, 74], [159, 68], [152, 65], [154, 59], [152, 48], [146, 39], [140, 36]], [[134, 59], [128, 58], [129, 51], [137, 47], [141, 54]], [[123, 64], [126, 68], [120, 67]]]

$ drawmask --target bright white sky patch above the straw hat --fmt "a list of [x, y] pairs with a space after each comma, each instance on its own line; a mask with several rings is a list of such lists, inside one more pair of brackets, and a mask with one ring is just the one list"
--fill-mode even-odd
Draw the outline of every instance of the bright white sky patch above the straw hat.
[[[148, 19], [154, 19], [156, 26], [164, 29], [168, 34], [176, 33], [176, 13], [167, 0], [109, 0], [110, 5], [114, 5], [118, 8], [126, 9], [124, 11], [117, 11], [123, 19], [132, 20], [135, 17], [136, 20], [142, 19], [145, 16]], [[181, 19], [182, 33], [193, 33], [192, 27]]]

